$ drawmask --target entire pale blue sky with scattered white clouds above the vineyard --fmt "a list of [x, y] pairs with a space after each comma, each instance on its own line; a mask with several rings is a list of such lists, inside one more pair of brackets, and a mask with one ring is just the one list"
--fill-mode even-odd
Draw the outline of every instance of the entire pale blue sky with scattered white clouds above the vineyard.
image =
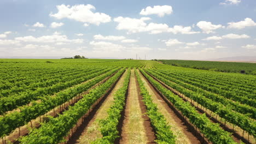
[[0, 57], [256, 57], [255, 0], [1, 0]]

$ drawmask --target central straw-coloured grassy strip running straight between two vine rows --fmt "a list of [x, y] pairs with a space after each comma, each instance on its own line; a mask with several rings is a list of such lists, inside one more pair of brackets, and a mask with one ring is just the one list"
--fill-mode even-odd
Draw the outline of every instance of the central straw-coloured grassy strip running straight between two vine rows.
[[143, 113], [139, 105], [139, 88], [136, 85], [134, 70], [131, 70], [124, 122], [119, 143], [148, 143], [147, 130], [144, 127]]

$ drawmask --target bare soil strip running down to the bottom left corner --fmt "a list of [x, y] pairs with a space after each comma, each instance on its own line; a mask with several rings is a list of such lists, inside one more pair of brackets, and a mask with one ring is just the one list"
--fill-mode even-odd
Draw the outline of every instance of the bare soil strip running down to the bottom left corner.
[[[4, 143], [7, 143], [7, 142], [15, 143], [15, 142], [17, 142], [19, 137], [27, 135], [30, 132], [31, 128], [39, 128], [40, 122], [43, 122], [43, 119], [45, 118], [45, 116], [53, 116], [53, 117], [59, 116], [59, 114], [62, 114], [62, 112], [64, 112], [65, 110], [68, 110], [68, 106], [72, 106], [75, 103], [77, 103], [77, 101], [79, 101], [80, 99], [83, 98], [84, 94], [89, 93], [91, 91], [91, 89], [94, 89], [96, 86], [101, 85], [101, 83], [107, 81], [109, 79], [109, 77], [112, 77], [115, 73], [106, 77], [101, 82], [98, 82], [96, 85], [89, 88], [88, 91], [78, 94], [76, 97], [73, 97], [72, 99], [70, 99], [66, 103], [63, 103], [62, 105], [56, 106], [53, 110], [45, 113], [45, 115], [39, 116], [36, 119], [32, 119], [32, 121], [28, 122], [26, 125], [24, 125], [20, 128], [16, 128], [10, 135], [4, 137]], [[85, 81], [83, 83], [89, 82], [91, 80], [92, 79]], [[0, 144], [3, 144], [2, 140], [0, 141]]]

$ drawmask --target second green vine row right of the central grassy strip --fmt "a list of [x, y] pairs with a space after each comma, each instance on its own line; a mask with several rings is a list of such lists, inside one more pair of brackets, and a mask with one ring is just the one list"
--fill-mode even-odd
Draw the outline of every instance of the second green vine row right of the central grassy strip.
[[189, 118], [189, 121], [200, 129], [208, 140], [213, 143], [236, 143], [231, 137], [230, 133], [224, 131], [218, 124], [214, 124], [208, 119], [205, 114], [200, 115], [195, 107], [191, 106], [188, 102], [174, 95], [167, 88], [161, 86], [159, 82], [150, 77], [144, 70], [140, 69], [144, 76], [155, 86], [171, 103], [183, 113], [184, 116]]

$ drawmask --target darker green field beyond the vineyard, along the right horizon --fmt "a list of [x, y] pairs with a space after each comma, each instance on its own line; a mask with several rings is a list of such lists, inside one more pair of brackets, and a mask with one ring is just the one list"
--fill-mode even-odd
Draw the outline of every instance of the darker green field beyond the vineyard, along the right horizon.
[[185, 61], [185, 60], [160, 60], [165, 64], [178, 67], [222, 71], [226, 73], [240, 73], [245, 70], [246, 74], [256, 75], [256, 63], [241, 62], [211, 62], [211, 61]]

